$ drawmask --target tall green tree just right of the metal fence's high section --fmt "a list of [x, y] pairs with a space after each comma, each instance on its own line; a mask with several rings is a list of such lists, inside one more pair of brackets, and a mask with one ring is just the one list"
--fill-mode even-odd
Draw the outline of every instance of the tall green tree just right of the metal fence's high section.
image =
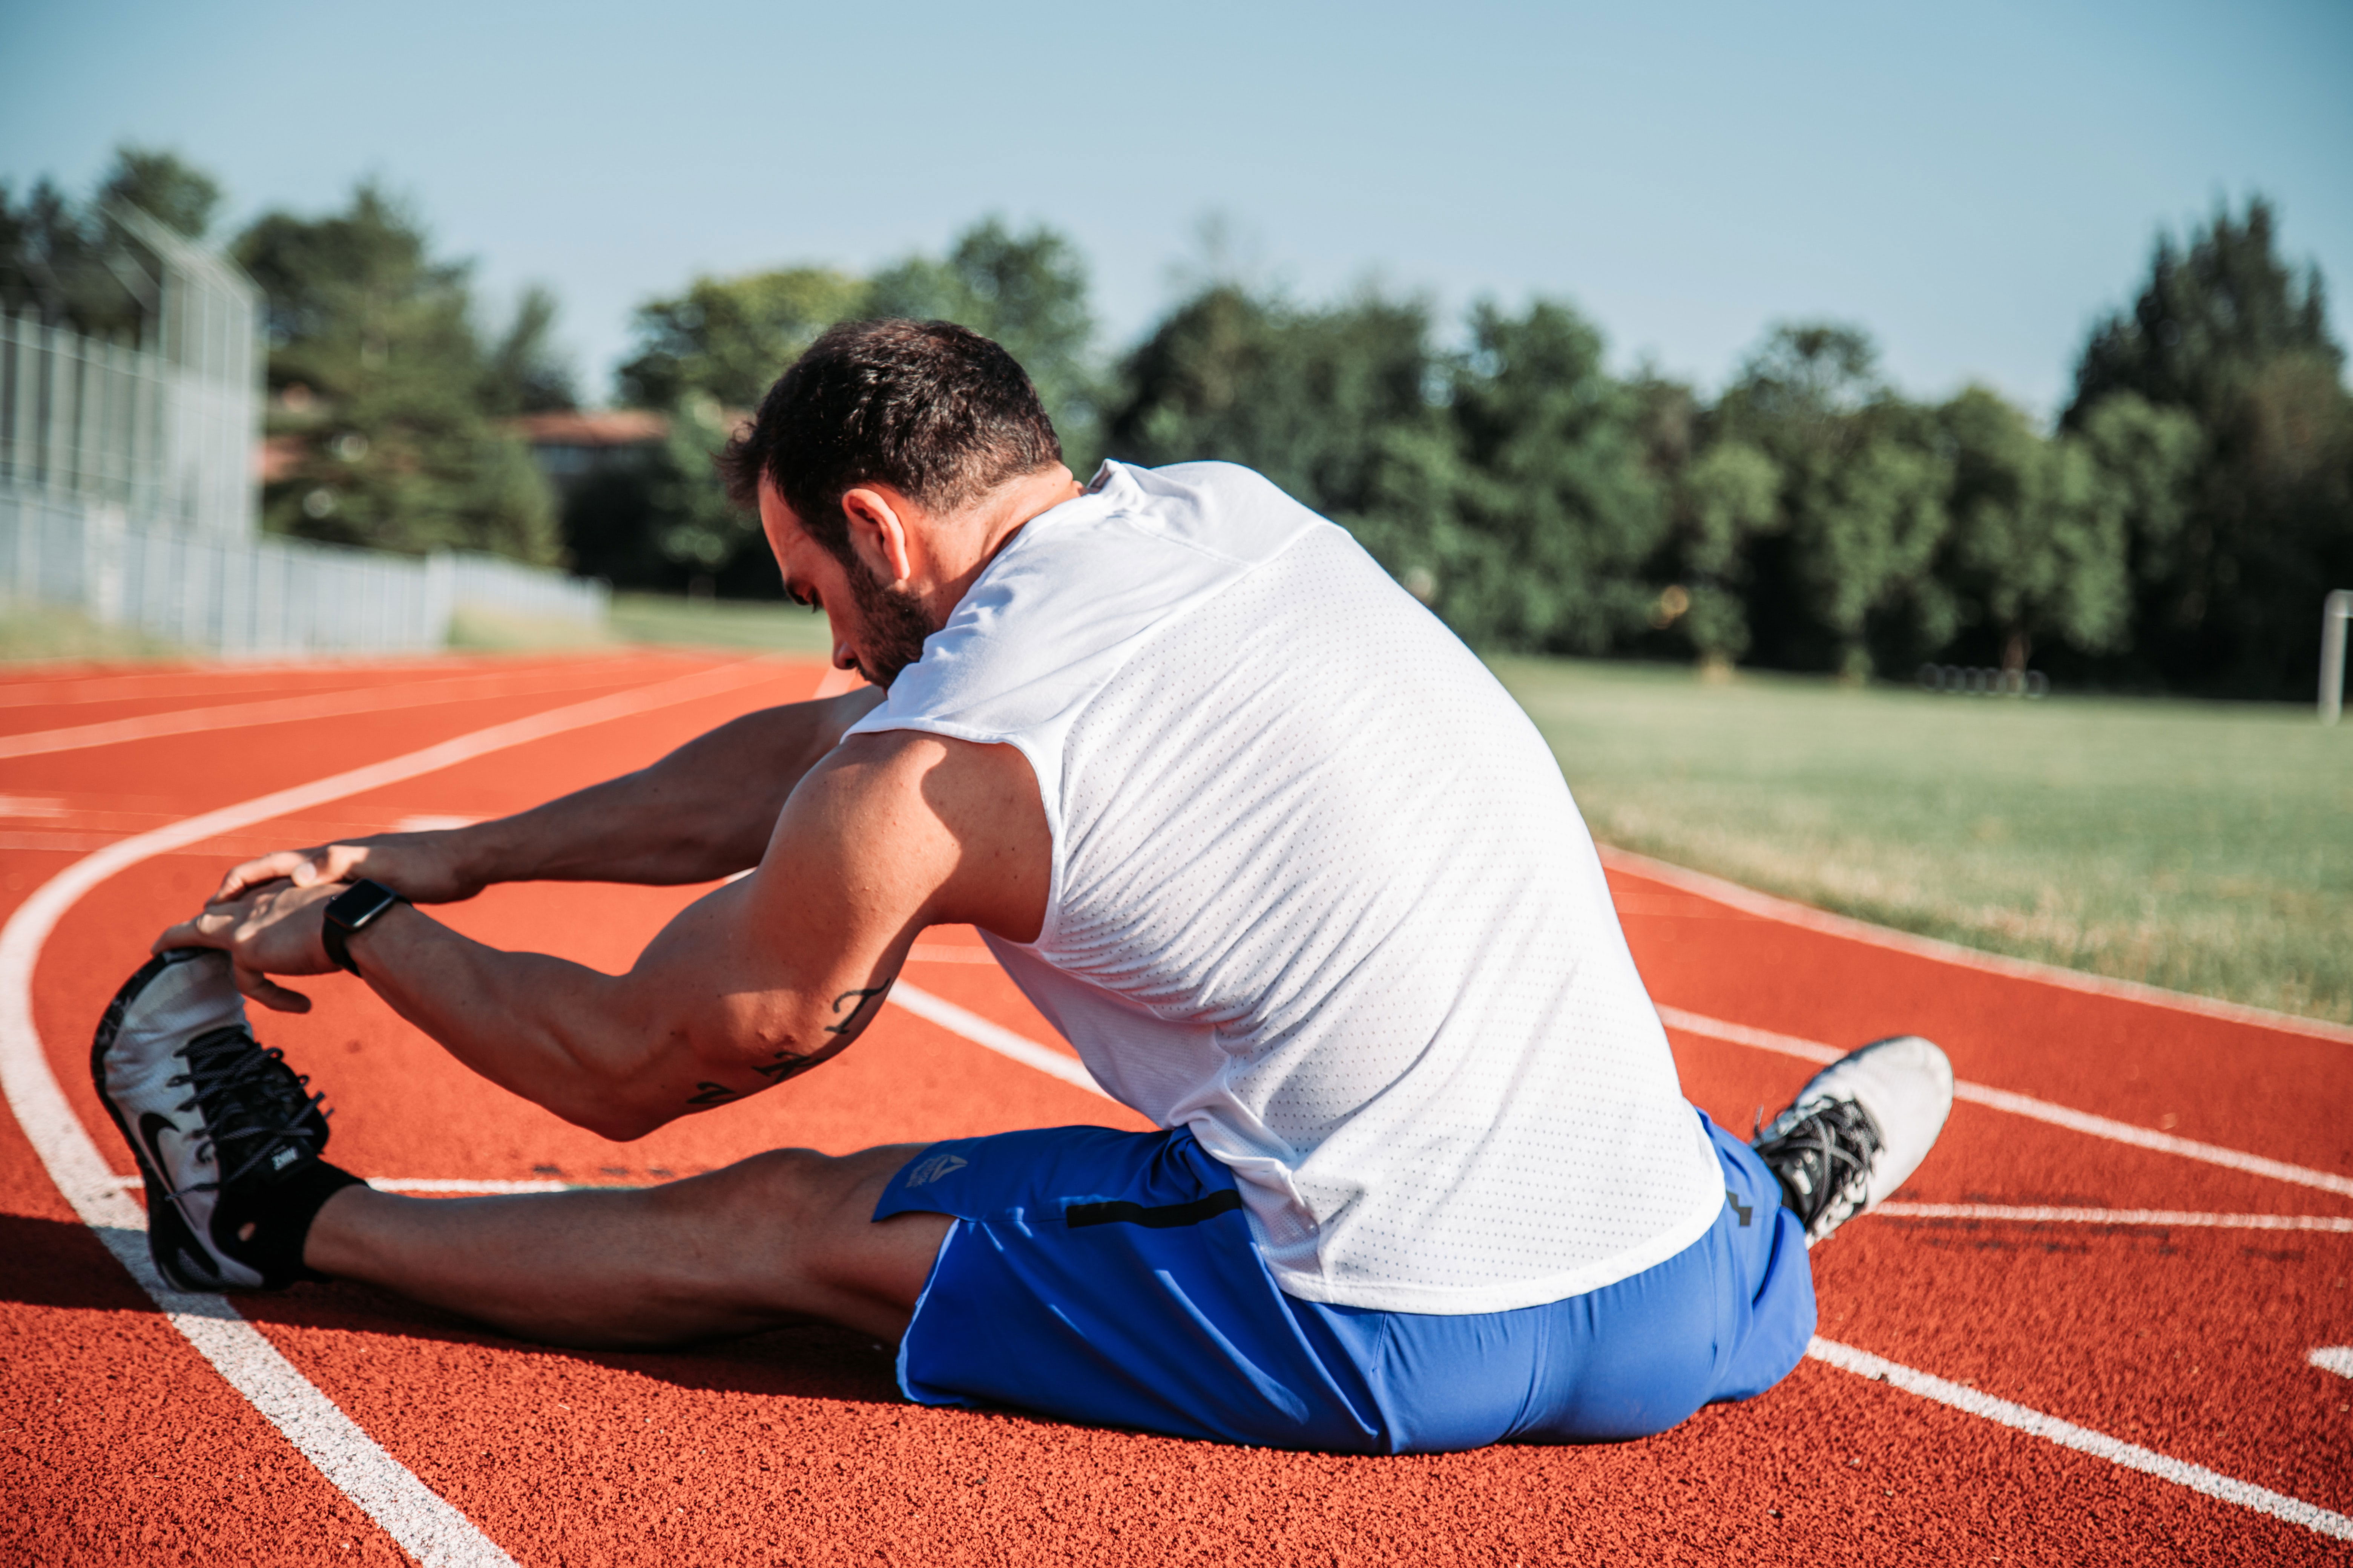
[[501, 435], [468, 268], [374, 183], [322, 219], [271, 212], [235, 244], [266, 296], [273, 430], [299, 458], [264, 491], [264, 527], [381, 550], [558, 557], [555, 505]]

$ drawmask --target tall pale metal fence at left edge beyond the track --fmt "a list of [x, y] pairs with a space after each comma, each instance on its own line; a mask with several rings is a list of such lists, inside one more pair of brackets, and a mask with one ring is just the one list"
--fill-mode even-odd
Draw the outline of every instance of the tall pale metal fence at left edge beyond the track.
[[602, 623], [605, 585], [558, 571], [261, 536], [254, 284], [146, 214], [113, 216], [144, 343], [0, 313], [0, 599], [226, 656], [438, 649], [459, 607]]

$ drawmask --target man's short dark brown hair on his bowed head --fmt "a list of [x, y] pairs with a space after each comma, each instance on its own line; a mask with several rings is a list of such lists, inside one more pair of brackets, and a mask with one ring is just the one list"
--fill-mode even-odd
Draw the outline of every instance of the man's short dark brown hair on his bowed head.
[[718, 454], [736, 505], [758, 508], [767, 475], [838, 557], [849, 552], [842, 496], [859, 484], [953, 510], [1059, 461], [1054, 421], [1009, 353], [955, 322], [908, 320], [831, 327]]

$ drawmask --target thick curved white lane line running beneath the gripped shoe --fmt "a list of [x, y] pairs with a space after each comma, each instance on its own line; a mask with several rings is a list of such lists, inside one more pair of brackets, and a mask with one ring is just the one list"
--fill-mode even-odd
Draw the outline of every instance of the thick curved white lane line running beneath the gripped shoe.
[[122, 1267], [162, 1307], [165, 1319], [219, 1368], [231, 1387], [249, 1399], [306, 1460], [318, 1465], [327, 1481], [344, 1490], [421, 1563], [492, 1563], [513, 1568], [513, 1559], [405, 1465], [384, 1453], [259, 1328], [245, 1321], [228, 1298], [184, 1295], [162, 1284], [146, 1251], [146, 1211], [122, 1192], [115, 1173], [89, 1140], [89, 1131], [73, 1114], [73, 1105], [68, 1105], [66, 1091], [59, 1088], [56, 1074], [49, 1072], [47, 1051], [33, 1027], [33, 966], [40, 961], [40, 947], [66, 910], [89, 889], [153, 856], [275, 816], [304, 811], [344, 795], [433, 773], [511, 745], [713, 696], [769, 672], [772, 668], [765, 661], [718, 665], [715, 670], [699, 670], [654, 686], [616, 691], [527, 719], [492, 724], [471, 736], [456, 736], [454, 741], [442, 741], [440, 745], [428, 745], [391, 762], [351, 769], [292, 790], [275, 790], [273, 795], [221, 806], [219, 811], [205, 811], [202, 816], [141, 832], [75, 860], [35, 889], [7, 919], [7, 926], [0, 926], [0, 1091], [7, 1093], [9, 1110], [16, 1112], [26, 1140], [49, 1171], [49, 1180], [73, 1204], [73, 1213], [99, 1232], [106, 1248], [122, 1260]]

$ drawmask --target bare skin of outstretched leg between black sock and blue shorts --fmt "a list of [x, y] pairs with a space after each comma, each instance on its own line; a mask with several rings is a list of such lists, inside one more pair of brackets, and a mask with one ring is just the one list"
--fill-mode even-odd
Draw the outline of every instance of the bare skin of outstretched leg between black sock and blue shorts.
[[951, 1220], [873, 1211], [922, 1150], [776, 1150], [626, 1192], [348, 1187], [320, 1208], [304, 1262], [551, 1345], [678, 1345], [807, 1319], [896, 1340]]

